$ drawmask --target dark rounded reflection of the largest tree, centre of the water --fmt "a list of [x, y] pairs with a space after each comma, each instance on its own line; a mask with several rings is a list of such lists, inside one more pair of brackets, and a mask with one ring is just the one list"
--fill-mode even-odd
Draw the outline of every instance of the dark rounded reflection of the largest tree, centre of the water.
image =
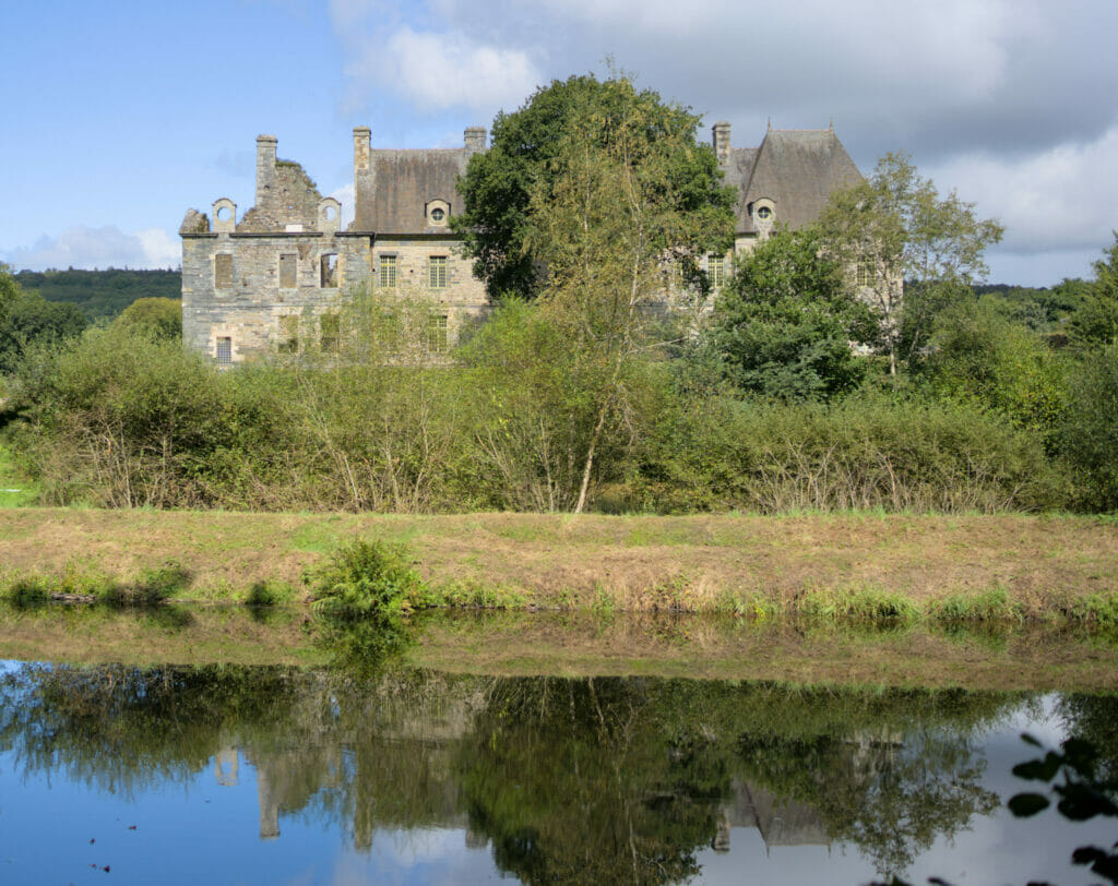
[[[508, 679], [459, 761], [470, 825], [528, 883], [672, 883], [698, 873], [729, 789], [713, 736], [665, 734], [671, 685]], [[666, 692], [665, 692], [666, 690]]]

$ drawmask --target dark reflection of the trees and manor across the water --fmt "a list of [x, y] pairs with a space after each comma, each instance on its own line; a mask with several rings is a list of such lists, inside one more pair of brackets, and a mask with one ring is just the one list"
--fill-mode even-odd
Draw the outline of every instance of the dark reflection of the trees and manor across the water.
[[[999, 803], [984, 744], [1039, 701], [653, 678], [449, 676], [368, 667], [18, 665], [3, 676], [7, 833], [45, 775], [138, 804], [255, 780], [258, 835], [464, 831], [527, 883], [676, 883], [755, 829], [906, 874]], [[1118, 760], [1114, 698], [1059, 716]], [[1107, 743], [1109, 742], [1109, 743]], [[215, 800], [217, 802], [217, 800]], [[198, 817], [197, 806], [183, 812]], [[30, 827], [30, 826], [28, 826]], [[494, 873], [495, 873], [494, 871]], [[423, 879], [423, 877], [418, 877]]]

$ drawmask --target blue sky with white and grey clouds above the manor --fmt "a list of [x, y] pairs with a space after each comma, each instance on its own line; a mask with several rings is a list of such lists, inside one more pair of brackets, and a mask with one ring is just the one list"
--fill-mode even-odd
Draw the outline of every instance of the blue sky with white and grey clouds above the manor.
[[703, 139], [833, 122], [863, 173], [909, 152], [1005, 226], [991, 282], [1089, 278], [1118, 228], [1114, 0], [38, 0], [3, 20], [17, 269], [178, 267], [188, 208], [252, 206], [262, 133], [351, 212], [354, 126], [457, 145], [607, 59]]

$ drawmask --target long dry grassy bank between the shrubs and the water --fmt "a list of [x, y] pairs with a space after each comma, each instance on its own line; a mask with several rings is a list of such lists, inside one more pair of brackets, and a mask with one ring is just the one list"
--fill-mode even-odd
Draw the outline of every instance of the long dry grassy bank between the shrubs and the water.
[[301, 602], [305, 570], [354, 539], [407, 544], [447, 604], [1118, 623], [1118, 523], [1063, 516], [8, 508], [0, 581], [9, 592]]

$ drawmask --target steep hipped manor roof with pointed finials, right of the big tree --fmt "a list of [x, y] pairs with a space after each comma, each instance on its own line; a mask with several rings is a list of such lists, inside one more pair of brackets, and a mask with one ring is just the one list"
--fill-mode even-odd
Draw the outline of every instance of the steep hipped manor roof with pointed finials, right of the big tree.
[[833, 191], [862, 181], [832, 130], [770, 130], [760, 147], [732, 150], [722, 169], [727, 184], [743, 185], [737, 211], [741, 232], [754, 230], [748, 208], [756, 200], [773, 200], [777, 222], [795, 230], [818, 218]]

